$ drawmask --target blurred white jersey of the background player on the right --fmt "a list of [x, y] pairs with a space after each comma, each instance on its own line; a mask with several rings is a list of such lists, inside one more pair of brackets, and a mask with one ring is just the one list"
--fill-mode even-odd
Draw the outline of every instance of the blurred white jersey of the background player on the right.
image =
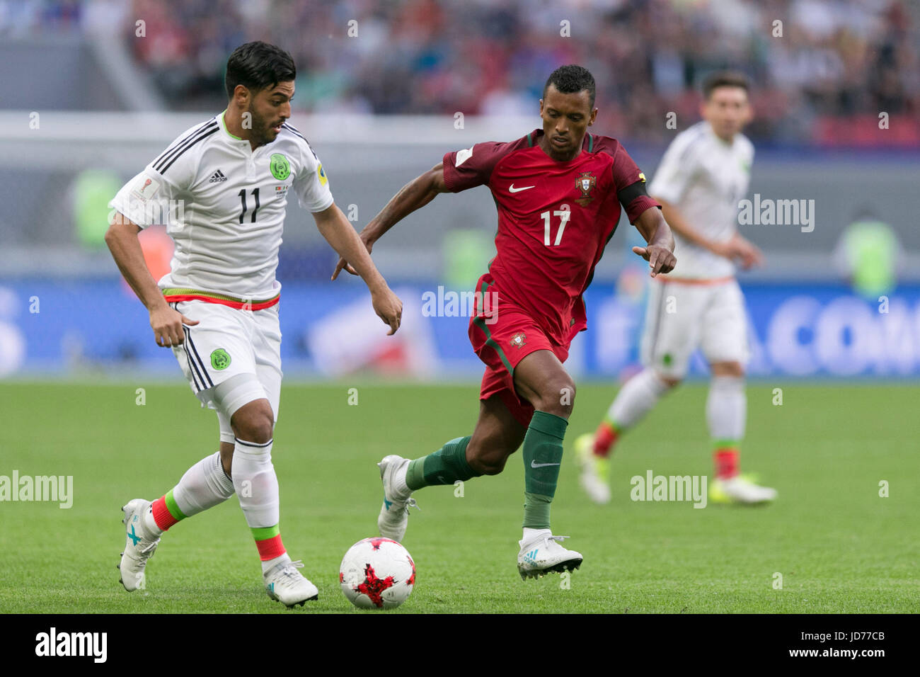
[[[708, 239], [725, 242], [738, 230], [738, 203], [751, 180], [753, 144], [743, 134], [722, 141], [706, 121], [677, 134], [668, 146], [649, 194], [673, 204]], [[734, 263], [674, 232], [674, 278], [717, 278], [735, 274]]]

